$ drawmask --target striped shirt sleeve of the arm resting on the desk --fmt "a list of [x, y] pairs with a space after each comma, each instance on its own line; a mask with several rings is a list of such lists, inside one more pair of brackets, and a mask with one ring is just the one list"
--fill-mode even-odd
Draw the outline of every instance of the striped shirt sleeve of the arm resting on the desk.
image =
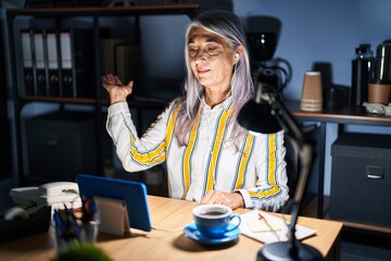
[[255, 140], [256, 186], [238, 191], [245, 208], [278, 211], [289, 199], [283, 130], [261, 135]]

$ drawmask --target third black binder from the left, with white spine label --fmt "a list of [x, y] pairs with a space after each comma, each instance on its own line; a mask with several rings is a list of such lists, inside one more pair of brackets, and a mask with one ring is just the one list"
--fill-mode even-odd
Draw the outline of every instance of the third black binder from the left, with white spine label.
[[59, 76], [59, 49], [58, 35], [55, 30], [47, 30], [46, 34], [47, 64], [48, 64], [48, 96], [60, 96], [60, 76]]

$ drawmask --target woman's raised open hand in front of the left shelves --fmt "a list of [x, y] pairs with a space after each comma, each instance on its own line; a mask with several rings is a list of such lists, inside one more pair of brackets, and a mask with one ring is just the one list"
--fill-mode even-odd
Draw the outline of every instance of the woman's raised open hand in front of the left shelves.
[[113, 74], [102, 76], [102, 84], [104, 89], [110, 95], [110, 103], [126, 101], [126, 97], [131, 94], [134, 82], [130, 80], [127, 85], [123, 85], [121, 79]]

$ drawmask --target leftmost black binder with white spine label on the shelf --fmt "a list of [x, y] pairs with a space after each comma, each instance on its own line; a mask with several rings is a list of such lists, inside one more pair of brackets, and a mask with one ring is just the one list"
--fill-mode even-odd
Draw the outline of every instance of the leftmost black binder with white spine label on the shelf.
[[24, 72], [24, 88], [25, 95], [35, 95], [35, 78], [33, 67], [33, 32], [22, 30], [22, 55], [23, 55], [23, 72]]

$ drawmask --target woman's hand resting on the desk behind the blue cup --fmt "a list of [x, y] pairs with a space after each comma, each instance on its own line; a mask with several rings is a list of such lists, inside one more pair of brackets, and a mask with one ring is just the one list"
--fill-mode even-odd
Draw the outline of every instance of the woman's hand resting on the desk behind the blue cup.
[[232, 210], [244, 208], [244, 201], [240, 192], [209, 191], [202, 199], [203, 204], [225, 204]]

